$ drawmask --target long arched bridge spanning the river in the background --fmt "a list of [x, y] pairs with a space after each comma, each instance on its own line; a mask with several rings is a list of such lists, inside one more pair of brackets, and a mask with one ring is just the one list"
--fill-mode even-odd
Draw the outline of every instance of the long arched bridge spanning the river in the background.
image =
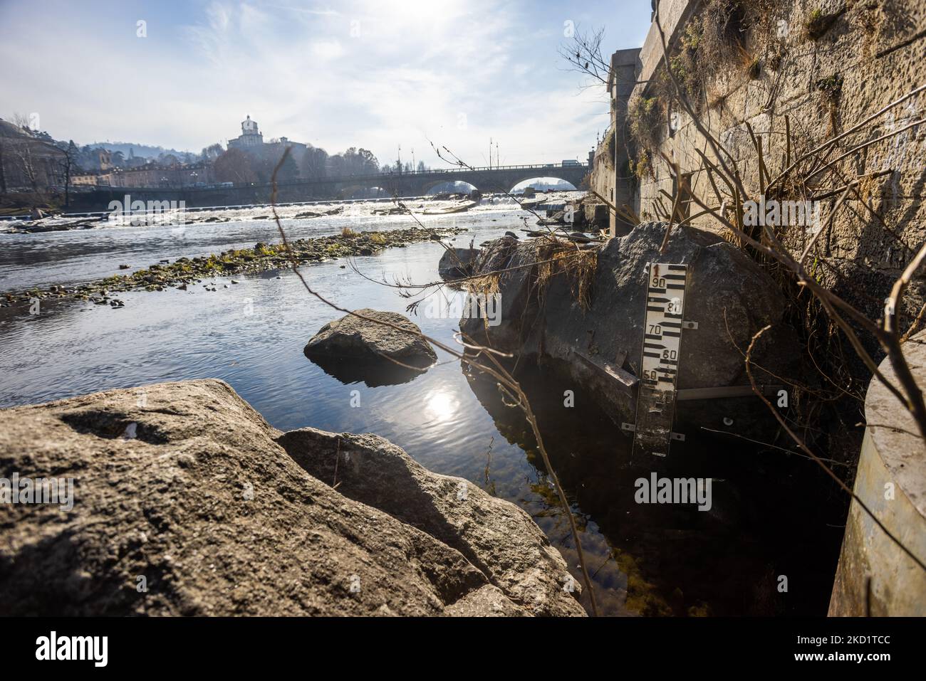
[[[318, 180], [278, 182], [277, 202], [349, 199], [373, 188], [383, 196], [423, 196], [445, 182], [467, 182], [483, 194], [510, 192], [524, 180], [556, 178], [575, 187], [591, 171], [587, 165], [532, 164], [523, 166], [450, 167], [423, 172], [381, 172]], [[189, 207], [269, 203], [272, 185], [235, 184], [231, 187], [94, 187], [90, 192], [71, 193], [71, 203], [83, 210], [105, 210], [112, 200], [125, 194], [140, 201], [184, 201]]]

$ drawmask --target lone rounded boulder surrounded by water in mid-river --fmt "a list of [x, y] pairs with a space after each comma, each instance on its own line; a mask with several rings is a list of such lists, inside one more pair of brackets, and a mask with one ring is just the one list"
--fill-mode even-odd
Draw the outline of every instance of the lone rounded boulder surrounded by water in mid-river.
[[355, 313], [320, 328], [308, 341], [306, 356], [313, 361], [350, 360], [415, 367], [430, 366], [437, 359], [421, 329], [407, 316], [369, 308]]

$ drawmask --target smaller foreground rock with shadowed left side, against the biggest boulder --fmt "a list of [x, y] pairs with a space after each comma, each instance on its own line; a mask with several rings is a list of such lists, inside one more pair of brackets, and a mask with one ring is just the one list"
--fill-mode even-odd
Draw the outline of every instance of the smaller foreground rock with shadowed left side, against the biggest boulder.
[[279, 442], [313, 477], [460, 551], [519, 606], [542, 615], [579, 613], [561, 598], [563, 559], [531, 519], [459, 477], [432, 473], [376, 435], [291, 430]]

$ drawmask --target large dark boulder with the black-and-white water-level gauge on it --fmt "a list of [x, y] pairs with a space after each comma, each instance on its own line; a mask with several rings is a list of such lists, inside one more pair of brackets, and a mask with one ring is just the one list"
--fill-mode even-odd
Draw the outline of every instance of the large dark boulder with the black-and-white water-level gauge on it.
[[[800, 356], [794, 331], [784, 321], [781, 289], [755, 261], [720, 236], [692, 227], [674, 228], [665, 254], [659, 249], [665, 223], [638, 225], [624, 237], [594, 246], [594, 269], [586, 282], [588, 308], [578, 300], [577, 275], [561, 271], [540, 281], [544, 239], [489, 243], [476, 274], [509, 269], [498, 278], [501, 323], [490, 327], [463, 318], [460, 329], [499, 350], [562, 367], [591, 390], [608, 415], [633, 423], [635, 392], [644, 341], [644, 307], [649, 263], [688, 266], [677, 388], [747, 387], [744, 353], [753, 335], [766, 332], [753, 352], [760, 382], [781, 384], [795, 377]], [[568, 248], [576, 248], [574, 244]], [[588, 248], [588, 246], [585, 246]], [[679, 402], [677, 415], [707, 427], [736, 431], [754, 425], [765, 406], [753, 398]], [[735, 424], [730, 427], [731, 422]]]

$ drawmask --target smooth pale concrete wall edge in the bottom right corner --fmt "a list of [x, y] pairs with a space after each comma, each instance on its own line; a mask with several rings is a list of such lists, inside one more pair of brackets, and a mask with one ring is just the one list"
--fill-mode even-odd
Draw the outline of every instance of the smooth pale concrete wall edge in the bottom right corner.
[[[905, 344], [907, 363], [926, 383], [926, 333]], [[881, 371], [895, 374], [886, 360]], [[865, 400], [869, 424], [855, 493], [897, 539], [926, 560], [926, 449], [913, 418], [878, 380]], [[897, 428], [897, 429], [895, 429]], [[926, 572], [852, 501], [830, 601], [831, 616], [926, 616]]]

